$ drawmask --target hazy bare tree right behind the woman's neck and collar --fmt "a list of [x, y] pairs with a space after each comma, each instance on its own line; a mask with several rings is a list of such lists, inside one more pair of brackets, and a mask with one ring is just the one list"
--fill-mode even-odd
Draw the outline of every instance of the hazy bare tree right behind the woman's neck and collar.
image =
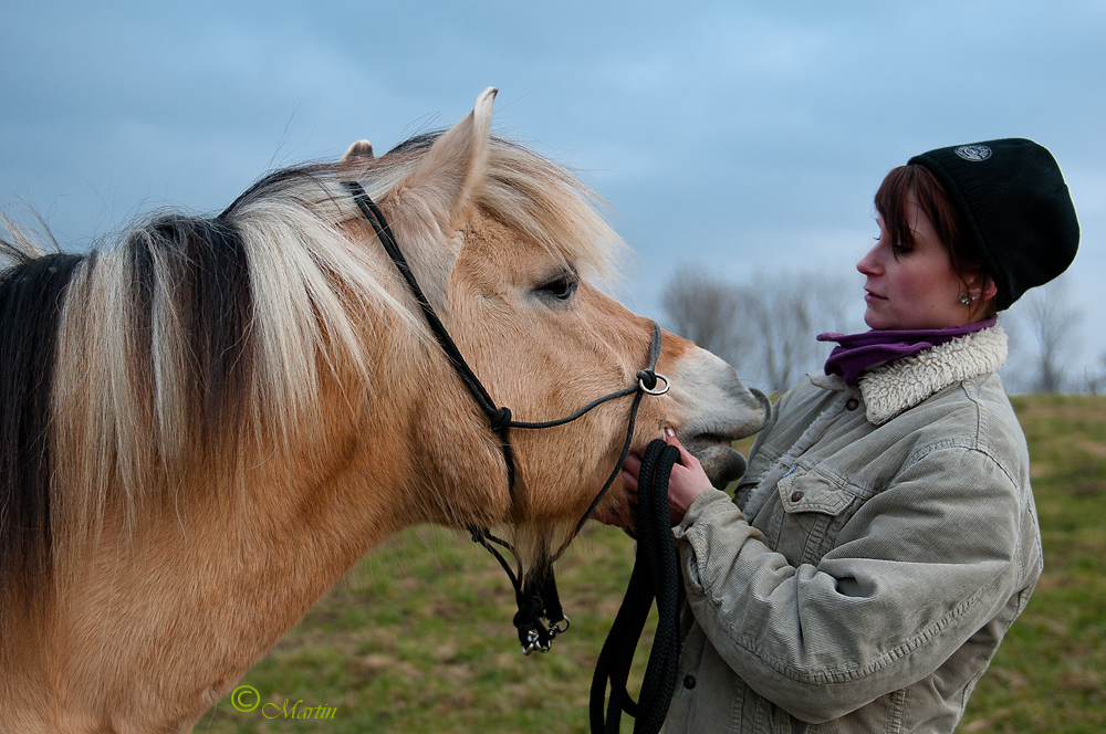
[[[1072, 303], [1066, 277], [1033, 289], [1011, 310], [1014, 327], [1023, 333], [1021, 343], [1033, 344], [1024, 356], [1036, 392], [1060, 392], [1066, 386], [1068, 360], [1076, 356], [1084, 310]], [[1027, 334], [1029, 338], [1025, 338]]]

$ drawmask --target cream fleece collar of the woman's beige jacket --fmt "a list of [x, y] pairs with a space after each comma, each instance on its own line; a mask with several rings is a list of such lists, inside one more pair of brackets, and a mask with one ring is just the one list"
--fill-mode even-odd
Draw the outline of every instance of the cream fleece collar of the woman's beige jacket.
[[[886, 423], [950, 385], [998, 371], [1005, 363], [1006, 333], [1001, 326], [889, 361], [860, 377], [865, 415], [876, 426]], [[845, 389], [836, 375], [812, 375], [811, 380], [818, 387]]]

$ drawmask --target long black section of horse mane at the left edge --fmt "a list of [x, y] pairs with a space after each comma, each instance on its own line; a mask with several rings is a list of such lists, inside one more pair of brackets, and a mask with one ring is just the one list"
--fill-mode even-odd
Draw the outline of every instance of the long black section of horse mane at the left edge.
[[[7, 248], [6, 248], [7, 249]], [[50, 401], [58, 325], [81, 255], [0, 273], [0, 607], [50, 578]]]

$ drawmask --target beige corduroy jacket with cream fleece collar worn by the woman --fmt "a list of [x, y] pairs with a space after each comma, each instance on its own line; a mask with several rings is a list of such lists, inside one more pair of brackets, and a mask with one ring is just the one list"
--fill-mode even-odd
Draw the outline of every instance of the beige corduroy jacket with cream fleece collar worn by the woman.
[[773, 409], [737, 499], [674, 528], [665, 732], [951, 732], [1042, 569], [999, 327]]

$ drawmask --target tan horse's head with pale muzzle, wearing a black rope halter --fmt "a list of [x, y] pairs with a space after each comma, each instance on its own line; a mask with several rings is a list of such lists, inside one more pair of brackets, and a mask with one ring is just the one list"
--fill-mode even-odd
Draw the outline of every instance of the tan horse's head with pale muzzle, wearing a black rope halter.
[[[413, 160], [380, 206], [492, 398], [517, 420], [540, 422], [635, 384], [648, 361], [653, 325], [602, 287], [625, 245], [589, 192], [562, 168], [491, 135], [494, 96], [487, 90], [449, 130], [389, 154]], [[351, 175], [359, 167], [372, 180], [378, 161], [365, 155], [366, 146], [351, 146], [344, 162]], [[743, 471], [730, 444], [760, 428], [761, 399], [728, 364], [672, 334], [664, 335], [657, 369], [671, 389], [641, 403], [633, 448], [671, 427], [724, 486]], [[452, 388], [445, 400], [468, 419], [422, 403], [410, 416], [424, 439], [416, 463], [429, 469], [420, 481], [436, 487], [422, 504], [431, 512], [420, 520], [509, 523], [526, 529], [523, 545], [531, 549], [567, 532], [617, 462], [628, 398], [556, 428], [512, 429], [518, 471], [509, 486], [499, 437], [459, 380], [442, 371], [439, 365], [438, 379]], [[619, 486], [601, 511], [618, 513], [624, 503]]]

